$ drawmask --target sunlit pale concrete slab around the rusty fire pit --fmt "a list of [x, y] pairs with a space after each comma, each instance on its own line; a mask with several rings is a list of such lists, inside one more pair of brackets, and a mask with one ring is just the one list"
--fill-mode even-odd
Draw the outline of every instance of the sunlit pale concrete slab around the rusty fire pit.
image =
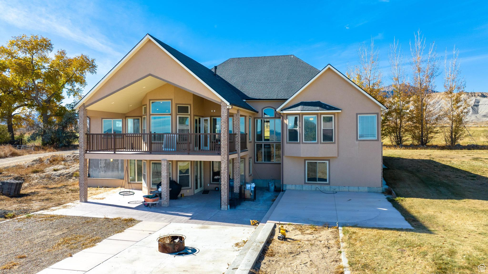
[[[142, 221], [38, 274], [221, 274], [239, 253], [234, 244], [253, 232], [253, 227]], [[188, 254], [158, 252], [157, 238], [168, 234], [185, 235]]]

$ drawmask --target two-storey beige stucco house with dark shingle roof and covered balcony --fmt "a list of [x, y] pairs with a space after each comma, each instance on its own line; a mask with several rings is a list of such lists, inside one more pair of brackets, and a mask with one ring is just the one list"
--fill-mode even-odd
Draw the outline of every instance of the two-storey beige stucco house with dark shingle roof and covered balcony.
[[75, 106], [80, 200], [88, 186], [185, 196], [234, 183], [382, 190], [381, 111], [331, 65], [293, 55], [231, 58], [209, 69], [146, 35]]

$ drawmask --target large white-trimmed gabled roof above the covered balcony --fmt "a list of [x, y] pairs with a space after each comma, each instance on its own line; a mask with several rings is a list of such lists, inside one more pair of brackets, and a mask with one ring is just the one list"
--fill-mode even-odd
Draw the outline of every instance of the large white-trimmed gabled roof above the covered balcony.
[[177, 51], [176, 49], [170, 47], [169, 45], [163, 43], [161, 40], [156, 39], [150, 34], [146, 34], [144, 38], [139, 41], [139, 43], [129, 52], [124, 58], [115, 65], [103, 78], [100, 80], [95, 87], [93, 87], [81, 100], [74, 106], [74, 109], [77, 109], [81, 106], [81, 104], [86, 101], [92, 93], [94, 93], [98, 88], [108, 79], [110, 78], [117, 70], [128, 60], [130, 59], [135, 52], [137, 52], [141, 46], [150, 39], [154, 43], [156, 43], [166, 54], [168, 54], [171, 58], [177, 61], [180, 65], [183, 66], [190, 74], [192, 74], [195, 78], [201, 81], [210, 91], [216, 94], [219, 98], [221, 98], [224, 102], [229, 105], [233, 105], [236, 107], [240, 107], [252, 112], [257, 112], [252, 106], [246, 103], [239, 95], [239, 90], [237, 90], [232, 85], [228, 84], [224, 79], [219, 76], [213, 74], [213, 72], [208, 69], [207, 67], [203, 66], [201, 63], [195, 61], [194, 59], [189, 58], [188, 56], [184, 55], [183, 53]]

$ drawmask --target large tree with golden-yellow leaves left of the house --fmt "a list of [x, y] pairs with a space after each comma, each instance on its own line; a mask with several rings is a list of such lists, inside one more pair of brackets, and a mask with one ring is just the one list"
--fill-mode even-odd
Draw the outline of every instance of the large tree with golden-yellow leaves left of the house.
[[9, 81], [37, 113], [31, 124], [38, 127], [43, 144], [51, 142], [52, 135], [47, 133], [52, 123], [62, 121], [62, 100], [65, 96], [80, 99], [86, 75], [94, 74], [97, 68], [95, 60], [86, 55], [70, 58], [64, 50], [52, 52], [51, 40], [37, 35], [13, 37], [0, 47]]

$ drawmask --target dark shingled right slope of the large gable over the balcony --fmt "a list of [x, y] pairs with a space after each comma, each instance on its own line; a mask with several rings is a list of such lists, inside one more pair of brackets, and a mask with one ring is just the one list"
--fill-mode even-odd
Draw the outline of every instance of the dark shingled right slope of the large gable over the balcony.
[[[220, 96], [225, 98], [231, 105], [238, 106], [247, 110], [256, 111], [248, 103], [241, 98], [241, 92], [227, 83], [221, 77], [215, 76], [213, 71], [205, 67], [201, 63], [189, 58], [183, 53], [163, 43], [161, 40], [151, 36], [156, 42], [158, 42], [165, 50], [167, 50], [172, 56], [178, 59], [185, 67], [192, 71], [198, 78], [202, 79], [208, 86], [210, 86]], [[239, 93], [239, 95], [238, 95]]]

